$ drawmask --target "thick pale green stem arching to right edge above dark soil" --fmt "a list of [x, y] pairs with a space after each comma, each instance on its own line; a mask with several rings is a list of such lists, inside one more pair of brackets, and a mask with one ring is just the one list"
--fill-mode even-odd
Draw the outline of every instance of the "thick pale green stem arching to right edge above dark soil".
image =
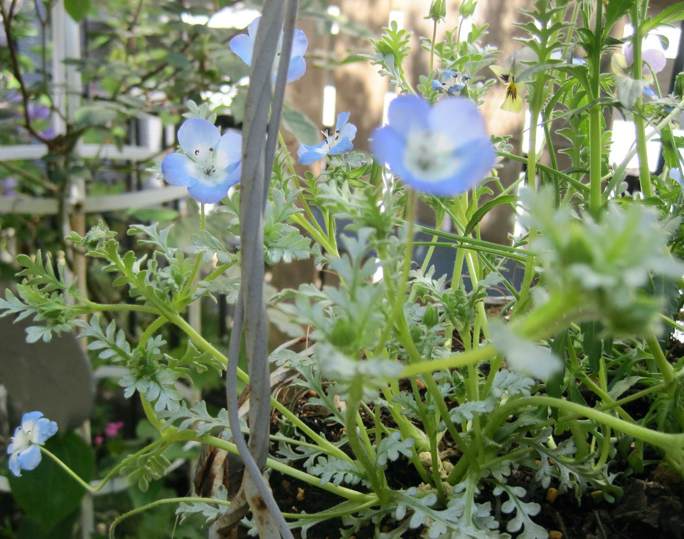
[[570, 402], [568, 400], [547, 396], [516, 398], [509, 400], [502, 406], [499, 406], [499, 408], [492, 413], [489, 421], [487, 422], [487, 426], [485, 427], [486, 436], [489, 438], [493, 437], [496, 430], [505, 423], [509, 415], [511, 415], [516, 409], [523, 408], [525, 406], [549, 406], [559, 410], [577, 413], [582, 417], [587, 417], [588, 419], [592, 419], [598, 423], [606, 424], [611, 428], [618, 430], [619, 432], [623, 432], [631, 437], [643, 440], [647, 443], [650, 443], [650, 445], [661, 447], [666, 451], [672, 451], [677, 454], [684, 453], [684, 434], [668, 434], [666, 432], [658, 432], [657, 430], [651, 430], [640, 425], [629, 423], [629, 421], [623, 421], [618, 417], [614, 417], [605, 412], [590, 408], [589, 406], [584, 406], [583, 404], [577, 404], [576, 402]]

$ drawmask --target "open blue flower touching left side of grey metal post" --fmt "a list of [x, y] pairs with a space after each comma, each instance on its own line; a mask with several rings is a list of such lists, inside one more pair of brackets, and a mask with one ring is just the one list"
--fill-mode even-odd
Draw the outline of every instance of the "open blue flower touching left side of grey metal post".
[[214, 204], [240, 181], [242, 135], [218, 128], [202, 118], [189, 118], [178, 130], [185, 154], [168, 154], [161, 161], [164, 181], [187, 186], [197, 202]]

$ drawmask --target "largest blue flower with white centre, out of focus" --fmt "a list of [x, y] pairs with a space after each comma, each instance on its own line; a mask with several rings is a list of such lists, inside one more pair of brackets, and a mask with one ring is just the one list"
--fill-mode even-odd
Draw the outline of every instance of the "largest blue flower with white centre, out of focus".
[[389, 124], [376, 129], [371, 151], [413, 189], [458, 195], [482, 181], [496, 154], [473, 102], [454, 97], [434, 107], [418, 96], [389, 105]]

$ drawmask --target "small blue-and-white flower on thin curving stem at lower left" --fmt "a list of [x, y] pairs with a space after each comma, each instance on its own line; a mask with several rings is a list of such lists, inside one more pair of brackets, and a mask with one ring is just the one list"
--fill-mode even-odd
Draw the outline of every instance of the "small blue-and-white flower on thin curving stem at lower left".
[[25, 413], [21, 418], [21, 426], [14, 431], [14, 436], [7, 448], [10, 455], [10, 471], [21, 477], [21, 470], [32, 470], [40, 464], [40, 449], [45, 441], [57, 432], [57, 424], [40, 412]]

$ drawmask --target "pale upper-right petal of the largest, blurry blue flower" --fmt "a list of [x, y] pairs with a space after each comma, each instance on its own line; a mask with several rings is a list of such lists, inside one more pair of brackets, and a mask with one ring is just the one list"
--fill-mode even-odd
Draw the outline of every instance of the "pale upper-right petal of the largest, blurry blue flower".
[[[395, 101], [397, 101], [395, 99]], [[454, 97], [440, 100], [428, 113], [430, 128], [445, 133], [460, 144], [487, 136], [484, 118], [475, 104], [468, 99]]]

